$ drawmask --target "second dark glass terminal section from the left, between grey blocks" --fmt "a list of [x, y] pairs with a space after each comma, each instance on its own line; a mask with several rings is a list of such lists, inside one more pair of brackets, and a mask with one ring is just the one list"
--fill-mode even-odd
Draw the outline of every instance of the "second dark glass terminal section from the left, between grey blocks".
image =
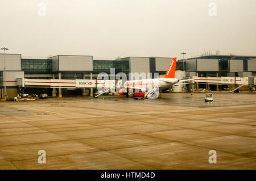
[[110, 73], [110, 68], [115, 68], [115, 73], [129, 73], [130, 65], [127, 60], [93, 60], [93, 71], [95, 73]]

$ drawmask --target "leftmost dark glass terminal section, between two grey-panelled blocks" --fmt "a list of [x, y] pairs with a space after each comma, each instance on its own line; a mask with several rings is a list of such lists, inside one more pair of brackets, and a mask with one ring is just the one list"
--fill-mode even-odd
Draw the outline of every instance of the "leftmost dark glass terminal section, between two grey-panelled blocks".
[[52, 73], [52, 60], [48, 59], [22, 59], [21, 66], [27, 74]]

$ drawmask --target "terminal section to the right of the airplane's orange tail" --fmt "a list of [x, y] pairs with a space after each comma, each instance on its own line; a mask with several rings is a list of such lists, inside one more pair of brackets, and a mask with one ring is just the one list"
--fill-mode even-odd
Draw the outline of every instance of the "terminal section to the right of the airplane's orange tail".
[[[256, 56], [205, 55], [188, 58], [185, 60], [185, 71], [187, 77], [256, 77]], [[205, 88], [205, 85], [199, 84], [198, 88]], [[210, 85], [210, 89], [218, 90], [216, 85]]]

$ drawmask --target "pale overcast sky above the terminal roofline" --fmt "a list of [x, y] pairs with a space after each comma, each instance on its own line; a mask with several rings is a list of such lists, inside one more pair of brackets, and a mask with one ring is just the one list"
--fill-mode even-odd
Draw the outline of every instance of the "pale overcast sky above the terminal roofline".
[[0, 0], [0, 17], [0, 47], [22, 57], [256, 56], [255, 0]]

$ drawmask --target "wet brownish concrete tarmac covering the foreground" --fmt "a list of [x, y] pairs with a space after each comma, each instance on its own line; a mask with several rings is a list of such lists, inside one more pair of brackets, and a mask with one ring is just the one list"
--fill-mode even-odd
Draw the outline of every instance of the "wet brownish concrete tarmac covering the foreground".
[[0, 169], [256, 169], [256, 94], [204, 95], [1, 102]]

